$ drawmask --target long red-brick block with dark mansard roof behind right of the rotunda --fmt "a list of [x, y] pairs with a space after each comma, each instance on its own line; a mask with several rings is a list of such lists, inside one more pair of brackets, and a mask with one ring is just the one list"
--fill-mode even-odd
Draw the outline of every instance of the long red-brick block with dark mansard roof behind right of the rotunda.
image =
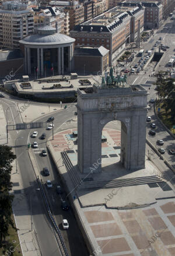
[[[141, 30], [143, 30], [143, 15], [141, 5], [130, 8], [116, 6], [96, 18], [75, 26], [74, 30], [70, 31], [70, 36], [76, 39], [76, 46], [103, 46], [108, 49], [108, 63], [111, 65], [125, 50], [125, 45], [135, 37], [137, 20], [140, 20]], [[135, 17], [134, 25], [131, 26], [131, 20]]]

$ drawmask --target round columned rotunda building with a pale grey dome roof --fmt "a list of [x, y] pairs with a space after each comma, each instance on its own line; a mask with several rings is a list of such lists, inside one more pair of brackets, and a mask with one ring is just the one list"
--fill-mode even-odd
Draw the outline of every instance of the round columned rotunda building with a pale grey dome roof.
[[39, 28], [37, 34], [19, 41], [24, 46], [24, 70], [26, 75], [37, 72], [46, 75], [54, 70], [55, 75], [72, 72], [74, 38], [56, 33], [51, 26]]

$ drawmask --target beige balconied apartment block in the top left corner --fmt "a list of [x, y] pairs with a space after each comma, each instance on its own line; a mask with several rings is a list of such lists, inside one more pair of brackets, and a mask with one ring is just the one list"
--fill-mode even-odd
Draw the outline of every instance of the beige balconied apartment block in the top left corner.
[[0, 9], [1, 47], [19, 47], [19, 40], [33, 32], [33, 10], [31, 8], [22, 2], [2, 2]]

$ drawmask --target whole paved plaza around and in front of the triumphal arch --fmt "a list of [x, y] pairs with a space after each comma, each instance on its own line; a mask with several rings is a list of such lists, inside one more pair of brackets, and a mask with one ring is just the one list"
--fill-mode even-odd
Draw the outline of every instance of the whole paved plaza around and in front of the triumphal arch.
[[[60, 159], [61, 151], [65, 150], [74, 167], [76, 166], [77, 145], [76, 136], [73, 134], [73, 132], [76, 134], [76, 130], [76, 128], [64, 130], [55, 134], [54, 140], [48, 142], [55, 161]], [[120, 131], [103, 129], [103, 135], [107, 137], [107, 142], [101, 144], [101, 154], [102, 157], [103, 155], [107, 157], [102, 158], [101, 174], [89, 176], [93, 177], [94, 182], [107, 180], [108, 184], [109, 179], [113, 177], [115, 180], [120, 180], [158, 175], [158, 170], [148, 160], [146, 160], [145, 169], [127, 173], [124, 168], [121, 168], [119, 162]], [[118, 167], [117, 172], [116, 167]], [[61, 167], [60, 171], [68, 182], [68, 175], [65, 175], [66, 169]], [[81, 173], [78, 175], [81, 179], [85, 179], [85, 175]], [[164, 182], [163, 179], [161, 181]], [[168, 184], [166, 185], [170, 189], [167, 189], [166, 185], [162, 188], [154, 185], [89, 190], [80, 187], [76, 191], [78, 200], [76, 199], [75, 203], [79, 207], [79, 215], [95, 248], [94, 254], [104, 256], [175, 255], [175, 194]], [[127, 207], [124, 207], [125, 203]], [[145, 207], [140, 205], [143, 203]], [[115, 206], [121, 206], [121, 208]]]

